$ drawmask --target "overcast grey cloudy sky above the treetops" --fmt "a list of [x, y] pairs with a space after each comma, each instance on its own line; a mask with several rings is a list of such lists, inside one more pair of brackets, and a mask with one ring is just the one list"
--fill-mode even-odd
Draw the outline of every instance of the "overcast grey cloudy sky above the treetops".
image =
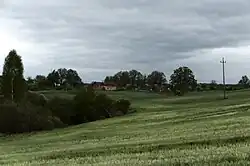
[[249, 0], [0, 0], [0, 72], [11, 49], [25, 76], [61, 67], [84, 81], [119, 70], [166, 76], [189, 66], [200, 82], [250, 75]]

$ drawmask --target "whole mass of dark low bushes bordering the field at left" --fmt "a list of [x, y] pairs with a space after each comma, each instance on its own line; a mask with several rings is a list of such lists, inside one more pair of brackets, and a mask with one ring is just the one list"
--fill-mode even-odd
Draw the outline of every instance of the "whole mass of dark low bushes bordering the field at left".
[[96, 94], [91, 87], [81, 90], [74, 99], [48, 100], [44, 95], [27, 92], [19, 103], [2, 103], [0, 132], [7, 134], [52, 130], [120, 116], [127, 114], [131, 105], [128, 100], [114, 101], [106, 94]]

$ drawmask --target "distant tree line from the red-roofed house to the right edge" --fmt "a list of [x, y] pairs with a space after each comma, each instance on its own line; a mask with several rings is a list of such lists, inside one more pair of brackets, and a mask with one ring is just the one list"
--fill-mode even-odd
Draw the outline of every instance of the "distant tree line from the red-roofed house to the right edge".
[[[149, 75], [137, 70], [119, 71], [113, 76], [107, 76], [105, 83], [116, 84], [121, 89], [138, 89], [155, 92], [170, 92], [175, 95], [184, 95], [189, 91], [223, 90], [224, 85], [215, 80], [210, 83], [197, 83], [193, 71], [188, 67], [179, 67], [174, 70], [167, 81], [163, 72], [153, 71]], [[244, 75], [238, 84], [227, 84], [226, 90], [240, 90], [250, 88], [250, 80]]]

